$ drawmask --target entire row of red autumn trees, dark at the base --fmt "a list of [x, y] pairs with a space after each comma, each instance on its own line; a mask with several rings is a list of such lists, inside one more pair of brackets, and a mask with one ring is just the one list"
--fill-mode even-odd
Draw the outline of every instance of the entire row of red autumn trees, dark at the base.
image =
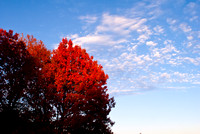
[[102, 66], [64, 38], [48, 50], [0, 29], [0, 122], [7, 133], [112, 133]]

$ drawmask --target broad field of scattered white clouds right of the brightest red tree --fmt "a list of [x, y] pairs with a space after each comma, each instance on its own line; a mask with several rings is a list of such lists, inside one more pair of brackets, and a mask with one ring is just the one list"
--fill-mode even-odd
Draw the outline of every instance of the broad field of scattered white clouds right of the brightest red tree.
[[[137, 94], [154, 89], [187, 89], [200, 80], [200, 29], [188, 18], [168, 15], [167, 1], [141, 1], [122, 13], [86, 15], [93, 24], [88, 33], [72, 34], [76, 44], [88, 48], [109, 74], [111, 94]], [[174, 3], [176, 4], [176, 3]], [[193, 11], [196, 3], [182, 4]], [[195, 9], [192, 16], [199, 16]], [[191, 16], [191, 17], [192, 17]], [[198, 18], [198, 17], [197, 17]], [[190, 18], [191, 19], [191, 18]], [[98, 20], [98, 23], [97, 23]], [[198, 21], [198, 19], [195, 19]], [[92, 51], [94, 50], [94, 51]], [[186, 85], [187, 85], [186, 84]]]

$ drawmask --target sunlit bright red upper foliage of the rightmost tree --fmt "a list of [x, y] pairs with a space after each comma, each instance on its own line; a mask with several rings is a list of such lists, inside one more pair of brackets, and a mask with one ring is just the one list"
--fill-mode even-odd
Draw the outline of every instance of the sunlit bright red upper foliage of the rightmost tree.
[[84, 87], [105, 85], [108, 78], [101, 65], [93, 61], [84, 49], [73, 46], [67, 39], [63, 39], [58, 49], [54, 51], [52, 63], [59, 91], [63, 85], [72, 86], [77, 91]]

